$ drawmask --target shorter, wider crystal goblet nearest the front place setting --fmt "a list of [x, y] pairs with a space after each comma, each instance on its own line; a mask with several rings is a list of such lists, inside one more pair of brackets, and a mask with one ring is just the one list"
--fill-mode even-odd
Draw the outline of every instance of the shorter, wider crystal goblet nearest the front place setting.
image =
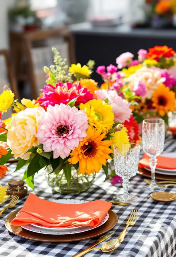
[[140, 145], [134, 143], [118, 143], [114, 145], [115, 173], [122, 177], [123, 195], [114, 196], [113, 200], [122, 203], [138, 201], [137, 196], [129, 195], [129, 178], [137, 173], [139, 163]]

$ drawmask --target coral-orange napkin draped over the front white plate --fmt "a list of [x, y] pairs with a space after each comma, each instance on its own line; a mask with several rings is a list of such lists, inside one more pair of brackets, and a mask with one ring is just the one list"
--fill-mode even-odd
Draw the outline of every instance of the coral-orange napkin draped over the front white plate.
[[50, 228], [96, 227], [110, 207], [111, 203], [103, 200], [80, 204], [54, 203], [30, 193], [11, 224], [14, 226], [36, 224]]

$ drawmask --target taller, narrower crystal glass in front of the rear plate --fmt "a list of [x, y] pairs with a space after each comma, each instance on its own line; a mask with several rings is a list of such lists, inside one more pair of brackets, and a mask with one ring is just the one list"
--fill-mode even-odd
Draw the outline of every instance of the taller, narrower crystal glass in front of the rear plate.
[[151, 184], [144, 186], [143, 190], [149, 192], [162, 191], [163, 187], [156, 185], [155, 168], [157, 164], [156, 156], [160, 155], [164, 149], [165, 129], [162, 119], [146, 119], [142, 124], [142, 145], [143, 151], [148, 156], [151, 168]]

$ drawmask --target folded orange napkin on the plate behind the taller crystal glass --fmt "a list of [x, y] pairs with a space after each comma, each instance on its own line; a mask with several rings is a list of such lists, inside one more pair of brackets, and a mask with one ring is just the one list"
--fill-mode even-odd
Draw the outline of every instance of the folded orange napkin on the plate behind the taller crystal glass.
[[[150, 168], [149, 165], [149, 156], [144, 154], [142, 159], [139, 161], [139, 167], [147, 167]], [[170, 158], [165, 156], [157, 156], [157, 168], [162, 169], [176, 169], [176, 158]]]

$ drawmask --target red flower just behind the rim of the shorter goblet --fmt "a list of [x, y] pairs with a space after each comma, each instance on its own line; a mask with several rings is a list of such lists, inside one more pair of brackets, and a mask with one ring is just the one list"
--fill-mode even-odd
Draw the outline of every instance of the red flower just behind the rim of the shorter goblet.
[[136, 143], [137, 140], [139, 140], [139, 126], [137, 124], [137, 121], [133, 118], [131, 115], [129, 121], [124, 122], [125, 128], [127, 128], [127, 133], [129, 136], [130, 143]]

